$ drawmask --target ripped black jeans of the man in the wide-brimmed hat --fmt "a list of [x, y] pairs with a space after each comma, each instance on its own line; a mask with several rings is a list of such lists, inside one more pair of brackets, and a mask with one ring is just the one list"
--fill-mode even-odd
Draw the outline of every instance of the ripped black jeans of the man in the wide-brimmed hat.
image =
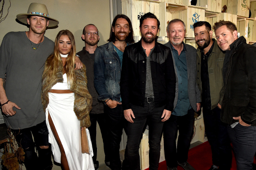
[[[12, 132], [18, 145], [24, 149], [26, 170], [44, 170], [53, 165], [51, 145], [48, 142], [49, 132], [45, 121], [33, 127], [12, 130]], [[38, 157], [35, 153], [35, 146], [38, 150]], [[49, 149], [40, 149], [40, 146], [49, 146]]]

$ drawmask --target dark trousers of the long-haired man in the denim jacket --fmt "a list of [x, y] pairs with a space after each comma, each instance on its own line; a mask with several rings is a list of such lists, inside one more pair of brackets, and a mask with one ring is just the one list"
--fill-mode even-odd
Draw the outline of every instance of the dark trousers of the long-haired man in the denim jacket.
[[122, 105], [117, 105], [111, 109], [108, 106], [104, 106], [104, 113], [107, 114], [107, 121], [110, 130], [110, 167], [111, 170], [121, 170], [121, 160], [119, 154], [121, 137], [123, 134], [123, 128], [127, 122], [124, 119], [124, 111]]

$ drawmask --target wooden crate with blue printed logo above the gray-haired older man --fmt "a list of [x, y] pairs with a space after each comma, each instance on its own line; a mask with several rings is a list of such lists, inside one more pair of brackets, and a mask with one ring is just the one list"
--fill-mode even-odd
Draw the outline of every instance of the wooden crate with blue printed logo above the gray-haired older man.
[[194, 38], [194, 27], [193, 24], [198, 21], [204, 21], [205, 19], [205, 9], [206, 8], [198, 8], [196, 6], [185, 6], [181, 10], [171, 9], [168, 10], [167, 13], [171, 13], [166, 20], [171, 21], [172, 19], [179, 18], [184, 21], [186, 25], [186, 37]]

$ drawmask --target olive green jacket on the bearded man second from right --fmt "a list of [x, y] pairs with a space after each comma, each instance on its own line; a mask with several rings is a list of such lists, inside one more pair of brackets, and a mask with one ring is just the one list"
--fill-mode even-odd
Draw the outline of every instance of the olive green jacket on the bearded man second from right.
[[[223, 98], [223, 76], [222, 68], [225, 53], [220, 50], [218, 47], [217, 41], [213, 39], [214, 47], [212, 53], [208, 58], [208, 74], [209, 74], [209, 83], [210, 83], [210, 95], [211, 95], [211, 110], [214, 109], [218, 103], [222, 102]], [[201, 83], [201, 51], [197, 48], [197, 85], [201, 91], [202, 96], [202, 83]]]

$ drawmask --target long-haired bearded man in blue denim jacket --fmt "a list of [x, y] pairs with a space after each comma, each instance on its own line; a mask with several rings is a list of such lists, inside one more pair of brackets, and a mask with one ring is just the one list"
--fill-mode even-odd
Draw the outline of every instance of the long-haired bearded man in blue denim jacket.
[[115, 16], [108, 41], [95, 50], [94, 86], [98, 100], [105, 104], [104, 113], [110, 128], [110, 168], [121, 170], [119, 146], [125, 119], [119, 82], [124, 48], [134, 43], [132, 22], [126, 15]]

